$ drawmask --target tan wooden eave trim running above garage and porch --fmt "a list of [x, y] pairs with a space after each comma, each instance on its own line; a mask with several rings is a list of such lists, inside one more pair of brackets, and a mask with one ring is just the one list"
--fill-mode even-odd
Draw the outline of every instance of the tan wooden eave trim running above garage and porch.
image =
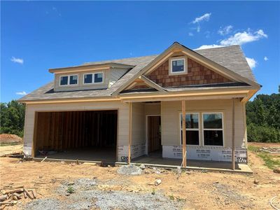
[[193, 87], [178, 92], [130, 92], [118, 94], [116, 97], [85, 97], [67, 99], [40, 99], [20, 100], [25, 104], [53, 104], [73, 102], [156, 102], [178, 100], [202, 100], [202, 99], [232, 99], [240, 98], [241, 102], [247, 102], [258, 90], [253, 87]]

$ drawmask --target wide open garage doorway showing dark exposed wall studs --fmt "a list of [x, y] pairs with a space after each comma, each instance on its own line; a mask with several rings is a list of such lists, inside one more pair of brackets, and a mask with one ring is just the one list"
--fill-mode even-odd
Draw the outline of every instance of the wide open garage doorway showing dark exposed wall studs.
[[116, 162], [118, 111], [37, 112], [36, 158]]

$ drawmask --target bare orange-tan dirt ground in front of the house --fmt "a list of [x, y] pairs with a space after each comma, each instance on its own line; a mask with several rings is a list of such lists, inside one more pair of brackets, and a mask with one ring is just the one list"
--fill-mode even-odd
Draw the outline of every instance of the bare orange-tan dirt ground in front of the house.
[[[99, 190], [134, 195], [161, 194], [169, 200], [183, 202], [183, 209], [272, 209], [269, 200], [280, 194], [280, 174], [263, 165], [262, 159], [254, 153], [248, 152], [248, 160], [253, 175], [188, 171], [178, 176], [175, 170], [161, 169], [159, 174], [155, 169], [144, 169], [141, 175], [125, 176], [117, 173], [119, 167], [22, 162], [18, 158], [2, 157], [0, 188], [10, 184], [24, 185], [36, 188], [38, 199], [56, 197], [63, 200], [65, 195], [57, 195], [56, 190], [64, 181], [94, 178], [99, 181]], [[162, 180], [159, 186], [153, 185], [156, 179]], [[20, 202], [6, 209], [21, 209], [30, 200]], [[280, 197], [276, 197], [274, 204], [280, 208]]]

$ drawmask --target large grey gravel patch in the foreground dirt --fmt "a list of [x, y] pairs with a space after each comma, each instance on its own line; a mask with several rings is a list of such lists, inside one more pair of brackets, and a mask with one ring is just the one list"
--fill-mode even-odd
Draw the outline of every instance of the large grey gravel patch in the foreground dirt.
[[[73, 193], [66, 193], [71, 186]], [[61, 192], [61, 193], [59, 193]], [[168, 197], [157, 192], [133, 193], [120, 190], [100, 190], [96, 179], [76, 179], [63, 182], [56, 191], [59, 195], [66, 195], [62, 200], [54, 198], [32, 200], [23, 209], [182, 209], [184, 202], [169, 200]]]

